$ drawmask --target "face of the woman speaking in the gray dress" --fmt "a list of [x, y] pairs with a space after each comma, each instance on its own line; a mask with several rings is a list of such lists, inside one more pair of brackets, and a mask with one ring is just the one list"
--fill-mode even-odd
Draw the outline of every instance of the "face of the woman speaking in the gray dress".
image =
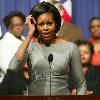
[[55, 30], [56, 23], [52, 13], [44, 13], [37, 18], [37, 31], [45, 42], [52, 41]]

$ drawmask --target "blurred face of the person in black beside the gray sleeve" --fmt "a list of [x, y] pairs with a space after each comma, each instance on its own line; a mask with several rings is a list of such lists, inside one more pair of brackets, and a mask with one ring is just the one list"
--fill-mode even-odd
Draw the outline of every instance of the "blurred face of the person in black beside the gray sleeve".
[[79, 46], [82, 64], [86, 64], [90, 62], [91, 59], [91, 52], [88, 45], [80, 45]]

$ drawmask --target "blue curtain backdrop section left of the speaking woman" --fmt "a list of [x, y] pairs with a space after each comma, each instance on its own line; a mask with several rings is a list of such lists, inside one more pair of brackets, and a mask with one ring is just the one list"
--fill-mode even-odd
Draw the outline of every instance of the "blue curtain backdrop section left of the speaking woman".
[[3, 35], [6, 32], [3, 24], [3, 17], [5, 15], [13, 10], [22, 11], [25, 15], [28, 15], [30, 9], [38, 2], [38, 0], [0, 0], [0, 25], [2, 26]]

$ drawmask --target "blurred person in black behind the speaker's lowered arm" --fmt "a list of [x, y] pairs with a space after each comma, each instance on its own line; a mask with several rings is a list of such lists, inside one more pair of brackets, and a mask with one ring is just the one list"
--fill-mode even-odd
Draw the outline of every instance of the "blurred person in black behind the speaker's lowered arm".
[[[87, 83], [87, 95], [95, 94], [96, 77], [95, 68], [91, 65], [91, 58], [94, 52], [93, 45], [87, 41], [78, 41], [77, 45], [80, 50], [82, 60], [82, 71], [86, 78]], [[76, 90], [72, 91], [72, 95], [76, 95]]]

